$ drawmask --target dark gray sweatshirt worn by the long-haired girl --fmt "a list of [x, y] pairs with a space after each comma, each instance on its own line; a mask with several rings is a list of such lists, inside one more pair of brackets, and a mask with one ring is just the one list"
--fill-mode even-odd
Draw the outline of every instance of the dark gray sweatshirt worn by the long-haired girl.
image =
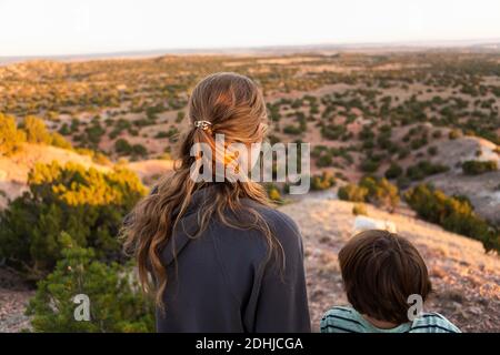
[[[164, 247], [168, 271], [164, 311], [157, 310], [158, 332], [310, 332], [303, 250], [296, 223], [286, 214], [256, 207], [280, 241], [279, 260], [264, 263], [268, 246], [256, 230], [237, 230], [212, 219], [198, 237], [198, 213], [212, 187], [193, 200]], [[213, 191], [212, 191], [213, 192]], [[241, 216], [240, 216], [241, 217]]]

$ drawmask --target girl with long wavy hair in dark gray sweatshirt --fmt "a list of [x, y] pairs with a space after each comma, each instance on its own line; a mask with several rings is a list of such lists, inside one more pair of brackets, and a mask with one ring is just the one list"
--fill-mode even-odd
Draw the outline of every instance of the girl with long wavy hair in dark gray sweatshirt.
[[[310, 332], [301, 235], [251, 181], [198, 181], [196, 143], [260, 143], [266, 103], [250, 79], [212, 74], [194, 88], [180, 166], [128, 216], [126, 250], [154, 295], [158, 332]], [[234, 163], [212, 154], [212, 163]], [[194, 174], [191, 172], [192, 166]], [[206, 172], [204, 172], [206, 173]]]

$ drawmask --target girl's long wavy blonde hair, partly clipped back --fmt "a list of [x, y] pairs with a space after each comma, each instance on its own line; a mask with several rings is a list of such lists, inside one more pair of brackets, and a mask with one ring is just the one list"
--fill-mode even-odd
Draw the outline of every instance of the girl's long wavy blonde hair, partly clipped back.
[[[208, 185], [216, 185], [214, 197], [198, 210], [199, 229], [196, 235], [207, 229], [210, 217], [239, 230], [257, 229], [268, 244], [267, 261], [277, 255], [282, 257], [284, 265], [281, 244], [262, 215], [251, 204], [242, 203], [242, 199], [249, 199], [261, 205], [270, 204], [260, 184], [251, 181], [197, 183], [190, 175], [190, 168], [197, 160], [190, 154], [193, 144], [214, 146], [216, 133], [224, 134], [226, 143], [251, 144], [263, 139], [261, 123], [267, 120], [267, 110], [258, 85], [237, 73], [211, 74], [193, 89], [188, 103], [188, 119], [190, 129], [180, 144], [179, 166], [158, 183], [156, 193], [136, 205], [121, 231], [126, 252], [137, 260], [142, 287], [154, 295], [159, 306], [163, 306], [162, 294], [167, 286], [167, 265], [162, 263], [161, 252], [177, 230], [193, 193]], [[208, 121], [210, 124], [208, 129], [200, 129], [194, 125], [197, 121]], [[250, 217], [231, 217], [234, 215]]]

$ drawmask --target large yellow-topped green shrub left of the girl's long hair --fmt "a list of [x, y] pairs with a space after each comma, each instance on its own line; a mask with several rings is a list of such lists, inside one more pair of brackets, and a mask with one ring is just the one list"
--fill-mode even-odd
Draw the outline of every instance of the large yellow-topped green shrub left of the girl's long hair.
[[57, 162], [37, 164], [29, 173], [29, 193], [0, 212], [0, 258], [43, 277], [61, 257], [61, 231], [97, 256], [122, 258], [118, 231], [124, 215], [146, 193], [138, 176], [120, 166], [102, 173], [96, 169]]

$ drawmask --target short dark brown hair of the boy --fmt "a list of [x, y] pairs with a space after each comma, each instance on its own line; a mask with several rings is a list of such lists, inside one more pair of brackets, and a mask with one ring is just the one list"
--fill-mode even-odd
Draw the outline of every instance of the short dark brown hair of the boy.
[[378, 321], [407, 323], [408, 296], [432, 290], [426, 263], [406, 239], [379, 230], [353, 236], [339, 253], [348, 301]]

